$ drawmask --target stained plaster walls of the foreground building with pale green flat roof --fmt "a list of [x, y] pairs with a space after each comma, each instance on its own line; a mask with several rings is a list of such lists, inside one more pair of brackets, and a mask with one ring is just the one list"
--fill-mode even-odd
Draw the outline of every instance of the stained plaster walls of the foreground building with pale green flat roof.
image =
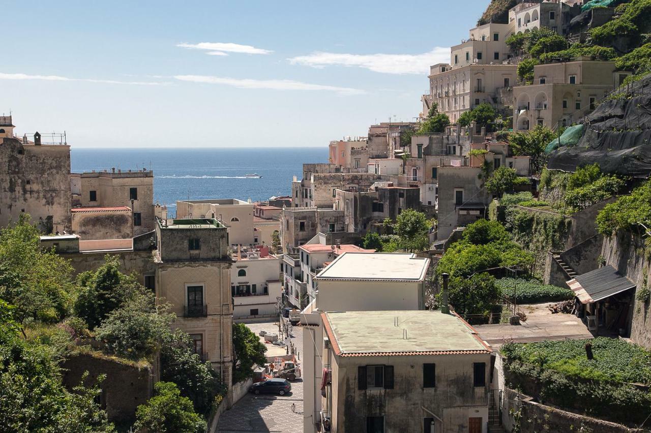
[[[380, 415], [387, 432], [421, 432], [424, 418], [432, 417], [427, 411], [443, 419], [443, 425], [435, 421], [436, 433], [467, 432], [470, 417], [481, 417], [482, 432], [487, 431], [488, 388], [473, 387], [473, 363], [486, 363], [490, 378], [490, 354], [336, 357], [328, 351], [330, 358], [324, 355], [324, 360], [332, 365], [332, 432], [363, 432], [366, 417]], [[423, 363], [436, 364], [435, 388], [422, 387]], [[393, 365], [394, 389], [357, 389], [359, 365]]]

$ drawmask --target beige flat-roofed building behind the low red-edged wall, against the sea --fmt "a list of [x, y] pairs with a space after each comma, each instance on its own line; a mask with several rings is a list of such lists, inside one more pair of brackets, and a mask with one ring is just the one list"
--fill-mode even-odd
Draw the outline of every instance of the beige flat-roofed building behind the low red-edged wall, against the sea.
[[[70, 192], [74, 207], [128, 207], [132, 220], [133, 235], [141, 235], [154, 230], [154, 172], [150, 170], [115, 170], [109, 172], [86, 172], [70, 174]], [[90, 215], [85, 213], [85, 224], [102, 230], [106, 226], [105, 213]], [[92, 219], [98, 217], [94, 222]], [[77, 218], [78, 219], [78, 218]], [[120, 222], [120, 226], [121, 226]], [[73, 228], [75, 230], [75, 228]], [[83, 239], [110, 239], [107, 237], [88, 237], [89, 230]], [[119, 233], [119, 230], [117, 231]], [[80, 233], [81, 234], [81, 233]], [[122, 237], [117, 235], [117, 237]]]

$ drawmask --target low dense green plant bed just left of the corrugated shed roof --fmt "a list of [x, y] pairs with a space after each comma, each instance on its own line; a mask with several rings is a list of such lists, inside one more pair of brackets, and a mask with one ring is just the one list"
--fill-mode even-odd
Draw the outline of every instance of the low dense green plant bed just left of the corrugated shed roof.
[[543, 284], [538, 280], [523, 278], [500, 278], [495, 280], [502, 296], [518, 304], [557, 302], [574, 297], [574, 292], [564, 287]]

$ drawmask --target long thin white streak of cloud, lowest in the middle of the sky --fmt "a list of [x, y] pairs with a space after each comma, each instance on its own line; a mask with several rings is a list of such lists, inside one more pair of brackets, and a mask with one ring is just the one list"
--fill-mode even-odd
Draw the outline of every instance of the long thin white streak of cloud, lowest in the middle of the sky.
[[359, 95], [365, 93], [363, 90], [350, 87], [316, 85], [303, 83], [294, 80], [256, 80], [236, 79], [227, 77], [213, 77], [210, 75], [175, 75], [174, 78], [180, 81], [192, 81], [193, 83], [208, 83], [217, 85], [233, 86], [237, 88], [271, 89], [271, 90], [329, 90], [341, 95]]

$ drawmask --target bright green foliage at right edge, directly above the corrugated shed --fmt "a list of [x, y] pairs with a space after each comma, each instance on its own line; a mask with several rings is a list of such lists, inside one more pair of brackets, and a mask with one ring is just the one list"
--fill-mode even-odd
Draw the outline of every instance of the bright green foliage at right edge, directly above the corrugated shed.
[[633, 189], [628, 196], [603, 207], [597, 215], [597, 228], [603, 235], [610, 236], [616, 230], [632, 230], [639, 224], [651, 228], [651, 183]]

